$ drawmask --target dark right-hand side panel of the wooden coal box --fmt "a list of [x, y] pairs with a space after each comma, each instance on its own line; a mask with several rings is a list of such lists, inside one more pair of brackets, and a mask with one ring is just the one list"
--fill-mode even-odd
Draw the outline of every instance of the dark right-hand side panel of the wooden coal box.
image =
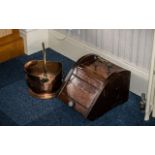
[[[118, 74], [118, 79], [115, 79], [116, 74]], [[94, 120], [128, 100], [131, 73], [123, 71], [116, 74], [112, 75], [114, 79], [107, 79], [107, 85], [92, 106], [88, 119]]]

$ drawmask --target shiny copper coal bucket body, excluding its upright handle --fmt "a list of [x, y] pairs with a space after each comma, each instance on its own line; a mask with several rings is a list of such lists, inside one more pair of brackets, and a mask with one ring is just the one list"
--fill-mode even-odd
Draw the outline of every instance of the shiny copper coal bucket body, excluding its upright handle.
[[30, 95], [40, 99], [50, 99], [57, 95], [61, 87], [62, 64], [47, 61], [46, 77], [48, 80], [43, 81], [45, 76], [43, 63], [43, 60], [31, 60], [24, 65], [24, 71]]

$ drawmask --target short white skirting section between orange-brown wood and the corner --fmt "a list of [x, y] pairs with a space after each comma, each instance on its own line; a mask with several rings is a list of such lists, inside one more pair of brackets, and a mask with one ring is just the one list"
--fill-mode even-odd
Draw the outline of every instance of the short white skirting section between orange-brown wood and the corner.
[[20, 35], [24, 39], [25, 54], [30, 55], [42, 49], [41, 43], [48, 45], [48, 29], [21, 29]]

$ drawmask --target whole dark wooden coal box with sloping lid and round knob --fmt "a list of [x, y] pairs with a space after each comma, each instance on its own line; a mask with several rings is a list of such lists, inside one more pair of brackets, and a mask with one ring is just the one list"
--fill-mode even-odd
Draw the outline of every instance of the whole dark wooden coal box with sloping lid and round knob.
[[130, 74], [98, 55], [88, 54], [69, 71], [58, 97], [94, 120], [128, 100]]

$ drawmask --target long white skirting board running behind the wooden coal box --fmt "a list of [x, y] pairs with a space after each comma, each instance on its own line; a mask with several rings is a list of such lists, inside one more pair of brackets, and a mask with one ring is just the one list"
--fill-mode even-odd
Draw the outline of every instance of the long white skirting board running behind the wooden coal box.
[[81, 56], [88, 53], [95, 53], [103, 58], [131, 71], [130, 91], [137, 95], [141, 93], [147, 93], [148, 87], [148, 72], [143, 68], [131, 65], [129, 62], [120, 59], [114, 55], [110, 55], [108, 51], [96, 49], [88, 46], [79, 40], [75, 40], [69, 36], [66, 36], [58, 31], [49, 30], [48, 32], [48, 45], [51, 49], [71, 58], [76, 61]]

